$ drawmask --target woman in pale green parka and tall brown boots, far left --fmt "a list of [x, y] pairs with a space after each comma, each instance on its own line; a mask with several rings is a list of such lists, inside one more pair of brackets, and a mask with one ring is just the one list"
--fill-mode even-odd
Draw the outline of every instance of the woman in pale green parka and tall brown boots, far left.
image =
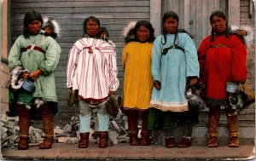
[[[57, 66], [61, 47], [52, 37], [41, 33], [43, 19], [41, 14], [30, 11], [25, 14], [24, 32], [20, 35], [9, 52], [9, 70], [15, 74], [20, 71], [18, 83], [22, 86], [17, 90], [19, 112], [20, 141], [19, 150], [28, 149], [28, 132], [31, 119], [31, 106], [41, 108], [44, 124], [44, 141], [39, 144], [41, 149], [49, 149], [54, 138], [53, 105], [57, 102], [54, 71]], [[25, 80], [32, 80], [34, 91], [22, 88]], [[14, 83], [15, 84], [15, 83]]]

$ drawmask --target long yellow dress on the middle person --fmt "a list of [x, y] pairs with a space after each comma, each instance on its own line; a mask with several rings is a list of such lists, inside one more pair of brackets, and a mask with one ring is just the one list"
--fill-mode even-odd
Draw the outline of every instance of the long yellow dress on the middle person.
[[153, 43], [131, 42], [123, 49], [125, 108], [147, 110], [153, 87], [151, 54]]

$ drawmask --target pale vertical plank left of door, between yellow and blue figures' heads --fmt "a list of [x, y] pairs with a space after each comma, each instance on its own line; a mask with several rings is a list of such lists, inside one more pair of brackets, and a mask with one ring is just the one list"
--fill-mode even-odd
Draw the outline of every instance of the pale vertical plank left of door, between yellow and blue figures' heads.
[[154, 26], [154, 35], [161, 32], [161, 0], [150, 0], [150, 22]]

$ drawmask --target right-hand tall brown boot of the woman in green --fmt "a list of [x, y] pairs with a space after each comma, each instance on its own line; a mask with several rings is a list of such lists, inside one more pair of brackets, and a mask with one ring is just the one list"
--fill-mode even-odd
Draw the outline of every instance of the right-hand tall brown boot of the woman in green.
[[39, 144], [41, 149], [51, 148], [54, 140], [54, 120], [52, 107], [49, 106], [49, 103], [45, 103], [41, 107], [43, 124], [44, 124], [44, 141]]

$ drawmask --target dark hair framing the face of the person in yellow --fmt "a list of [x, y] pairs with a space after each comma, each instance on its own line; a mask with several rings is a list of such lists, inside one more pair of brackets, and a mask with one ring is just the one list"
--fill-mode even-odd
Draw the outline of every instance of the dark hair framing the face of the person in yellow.
[[125, 37], [125, 43], [129, 43], [132, 41], [139, 42], [139, 40], [137, 38], [137, 31], [140, 28], [140, 26], [145, 26], [149, 31], [149, 37], [148, 37], [147, 42], [148, 43], [154, 42], [154, 38], [155, 38], [154, 37], [154, 27], [152, 26], [152, 24], [148, 20], [139, 20], [139, 21], [137, 21], [134, 28], [132, 28], [129, 31], [129, 33], [127, 34], [128, 36]]

